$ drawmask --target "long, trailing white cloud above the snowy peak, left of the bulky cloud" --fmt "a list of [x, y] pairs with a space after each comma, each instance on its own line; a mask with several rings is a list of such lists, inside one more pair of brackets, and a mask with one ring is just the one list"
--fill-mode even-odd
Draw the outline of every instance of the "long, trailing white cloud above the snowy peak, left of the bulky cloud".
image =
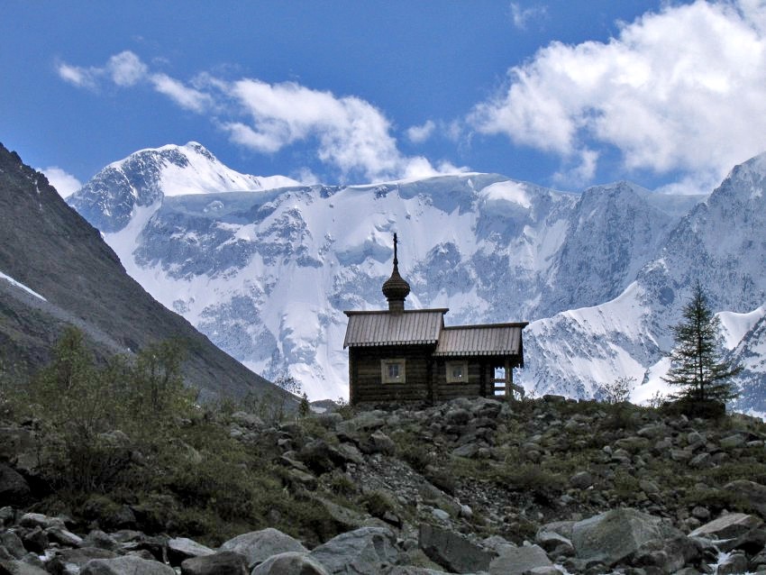
[[[62, 63], [58, 70], [70, 84], [91, 89], [105, 82], [117, 87], [144, 83], [186, 110], [208, 114], [231, 141], [253, 151], [274, 153], [296, 142], [314, 146], [316, 158], [341, 178], [380, 180], [460, 170], [447, 163], [434, 168], [423, 157], [402, 154], [386, 115], [356, 96], [335, 96], [295, 82], [227, 81], [209, 73], [184, 83], [151, 71], [131, 51], [113, 56], [103, 67]], [[433, 127], [425, 123], [411, 134], [425, 139]]]

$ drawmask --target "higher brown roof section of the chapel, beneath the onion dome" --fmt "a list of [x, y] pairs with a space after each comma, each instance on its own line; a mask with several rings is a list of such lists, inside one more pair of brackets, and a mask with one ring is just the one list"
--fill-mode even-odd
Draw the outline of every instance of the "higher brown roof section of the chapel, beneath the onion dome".
[[343, 312], [349, 316], [343, 347], [361, 345], [433, 344], [439, 341], [446, 309]]

